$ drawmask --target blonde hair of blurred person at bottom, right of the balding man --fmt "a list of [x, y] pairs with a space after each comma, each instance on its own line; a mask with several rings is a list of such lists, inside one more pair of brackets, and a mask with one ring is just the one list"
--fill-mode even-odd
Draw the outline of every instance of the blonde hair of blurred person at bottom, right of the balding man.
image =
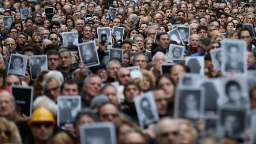
[[195, 144], [197, 138], [198, 138], [198, 133], [195, 130], [195, 128], [193, 127], [193, 124], [191, 121], [187, 120], [187, 119], [177, 119], [179, 125], [181, 126], [181, 124], [187, 125], [189, 127], [189, 132], [191, 134], [191, 141], [190, 144]]

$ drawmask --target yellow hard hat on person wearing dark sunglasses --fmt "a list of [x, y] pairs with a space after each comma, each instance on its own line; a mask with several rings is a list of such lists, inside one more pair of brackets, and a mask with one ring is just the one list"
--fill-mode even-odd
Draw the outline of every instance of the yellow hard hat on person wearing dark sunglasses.
[[30, 127], [31, 123], [33, 122], [46, 122], [46, 121], [52, 122], [52, 125], [55, 125], [55, 119], [53, 118], [52, 113], [48, 109], [44, 107], [40, 107], [34, 110], [28, 124]]

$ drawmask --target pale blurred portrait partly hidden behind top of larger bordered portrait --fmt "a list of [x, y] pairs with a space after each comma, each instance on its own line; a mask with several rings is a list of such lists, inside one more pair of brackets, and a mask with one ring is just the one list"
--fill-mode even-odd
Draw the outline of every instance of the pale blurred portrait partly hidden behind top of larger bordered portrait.
[[198, 73], [181, 73], [179, 86], [181, 87], [198, 87], [203, 80], [203, 76]]

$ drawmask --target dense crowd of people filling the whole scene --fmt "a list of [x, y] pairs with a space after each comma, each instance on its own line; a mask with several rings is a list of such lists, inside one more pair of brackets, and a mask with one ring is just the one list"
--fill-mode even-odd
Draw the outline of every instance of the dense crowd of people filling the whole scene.
[[[54, 11], [51, 18], [44, 12], [44, 8], [49, 7]], [[23, 8], [29, 9], [22, 12], [26, 16], [24, 20], [20, 13]], [[31, 17], [27, 17], [29, 13]], [[256, 127], [252, 127], [255, 123], [250, 121], [256, 108], [255, 13], [253, 0], [1, 1], [0, 143], [80, 144], [84, 138], [80, 135], [81, 125], [111, 122], [115, 125], [116, 133], [112, 134], [117, 144], [255, 144]], [[3, 16], [13, 16], [13, 20], [4, 20]], [[181, 28], [180, 34], [170, 35], [179, 25], [189, 31]], [[106, 40], [97, 34], [97, 29], [102, 27], [111, 29]], [[113, 27], [122, 27], [123, 34], [113, 33]], [[64, 45], [64, 32], [75, 32], [77, 37], [74, 33], [67, 34], [68, 44]], [[73, 42], [76, 38], [78, 42]], [[230, 48], [231, 74], [224, 75], [223, 58], [220, 54], [212, 57], [210, 51], [224, 49], [221, 41], [230, 39], [243, 40], [247, 50], [240, 53], [239, 47]], [[96, 59], [95, 55], [79, 54], [77, 43], [91, 41], [95, 42], [99, 65], [87, 68], [82, 59]], [[170, 44], [177, 48], [171, 51], [172, 66], [163, 73], [161, 65], [170, 63]], [[123, 56], [109, 59], [111, 48], [122, 49]], [[27, 63], [19, 55], [28, 56]], [[47, 56], [48, 69], [43, 68], [41, 57], [31, 61], [35, 65], [29, 68], [29, 56], [36, 55]], [[202, 57], [203, 67], [193, 63], [185, 65], [184, 60], [189, 56]], [[242, 56], [247, 61], [233, 63]], [[212, 59], [218, 65], [213, 65]], [[241, 65], [247, 68], [244, 70]], [[139, 70], [128, 68], [131, 66], [138, 66]], [[236, 68], [239, 71], [234, 71]], [[23, 70], [25, 74], [20, 75]], [[38, 75], [31, 75], [31, 71]], [[200, 72], [202, 79], [191, 79], [190, 73], [195, 71]], [[243, 73], [243, 77], [238, 77], [237, 72]], [[181, 85], [183, 73], [188, 77]], [[223, 79], [235, 80], [226, 80], [226, 86], [221, 89], [209, 82], [216, 80], [222, 85]], [[246, 79], [246, 82], [239, 85], [237, 79]], [[200, 86], [199, 81], [205, 82], [204, 86]], [[117, 86], [114, 82], [118, 82]], [[195, 87], [195, 83], [199, 86]], [[30, 117], [15, 101], [13, 85], [33, 87]], [[205, 89], [198, 90], [201, 87]], [[198, 91], [192, 93], [193, 90]], [[153, 105], [159, 120], [143, 117], [150, 123], [144, 129], [140, 127], [142, 114], [136, 110], [134, 98], [149, 91], [154, 95]], [[81, 98], [81, 111], [63, 127], [57, 126], [57, 119], [61, 119], [58, 118], [58, 96]], [[224, 97], [226, 103], [219, 97]], [[180, 102], [182, 100], [184, 102]], [[142, 111], [151, 114], [153, 105], [141, 104]], [[201, 105], [204, 105], [203, 113], [199, 111]], [[242, 107], [245, 114], [228, 113], [220, 109], [223, 105], [233, 107], [230, 110]], [[66, 111], [61, 115], [73, 114], [68, 104], [61, 107]], [[212, 119], [205, 119], [207, 116]]]

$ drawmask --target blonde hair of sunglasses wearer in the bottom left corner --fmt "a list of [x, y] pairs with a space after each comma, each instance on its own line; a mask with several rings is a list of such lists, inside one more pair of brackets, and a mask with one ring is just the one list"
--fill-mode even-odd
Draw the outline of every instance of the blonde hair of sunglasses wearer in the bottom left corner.
[[9, 143], [22, 144], [20, 132], [14, 122], [7, 121], [6, 118], [0, 117], [0, 123], [5, 124], [7, 127], [7, 130], [11, 131], [11, 136], [9, 136], [9, 140], [10, 140]]

